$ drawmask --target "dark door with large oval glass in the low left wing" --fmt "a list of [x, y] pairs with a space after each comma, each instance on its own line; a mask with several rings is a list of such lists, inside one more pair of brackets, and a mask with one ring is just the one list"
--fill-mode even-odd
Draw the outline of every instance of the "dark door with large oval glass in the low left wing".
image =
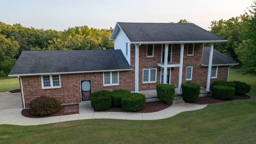
[[81, 100], [86, 102], [91, 100], [92, 86], [91, 80], [81, 80]]

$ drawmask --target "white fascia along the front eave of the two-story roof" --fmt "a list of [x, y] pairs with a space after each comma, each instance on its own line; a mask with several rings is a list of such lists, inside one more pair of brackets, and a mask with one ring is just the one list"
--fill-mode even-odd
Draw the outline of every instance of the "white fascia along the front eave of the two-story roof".
[[131, 44], [189, 44], [189, 43], [215, 43], [227, 42], [228, 40], [202, 40], [202, 41], [164, 41], [164, 42], [131, 42]]

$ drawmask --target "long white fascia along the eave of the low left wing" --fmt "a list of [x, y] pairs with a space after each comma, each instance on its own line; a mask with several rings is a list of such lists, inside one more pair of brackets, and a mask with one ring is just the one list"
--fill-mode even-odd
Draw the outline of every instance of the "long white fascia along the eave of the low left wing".
[[120, 70], [95, 70], [95, 71], [81, 71], [81, 72], [55, 72], [55, 73], [37, 73], [37, 74], [9, 74], [8, 76], [41, 76], [41, 75], [59, 75], [59, 74], [80, 74], [80, 73], [93, 73], [93, 72], [115, 72], [115, 71], [128, 71], [130, 69]]

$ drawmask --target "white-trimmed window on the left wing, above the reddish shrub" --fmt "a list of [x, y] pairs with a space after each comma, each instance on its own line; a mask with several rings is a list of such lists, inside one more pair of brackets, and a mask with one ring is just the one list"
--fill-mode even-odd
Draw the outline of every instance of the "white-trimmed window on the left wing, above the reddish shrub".
[[42, 88], [60, 88], [60, 75], [41, 76]]

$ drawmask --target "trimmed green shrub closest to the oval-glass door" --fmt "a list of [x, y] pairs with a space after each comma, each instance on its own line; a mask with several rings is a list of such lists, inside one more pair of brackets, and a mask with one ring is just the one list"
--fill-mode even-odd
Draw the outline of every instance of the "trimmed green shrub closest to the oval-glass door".
[[91, 94], [91, 104], [94, 110], [109, 110], [112, 106], [111, 93], [108, 90], [101, 90]]

